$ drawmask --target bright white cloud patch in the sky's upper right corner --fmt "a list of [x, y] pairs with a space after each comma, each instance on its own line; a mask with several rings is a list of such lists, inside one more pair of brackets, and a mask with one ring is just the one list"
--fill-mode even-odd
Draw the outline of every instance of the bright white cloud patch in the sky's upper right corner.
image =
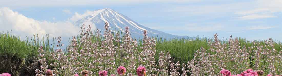
[[235, 14], [241, 14], [243, 16], [236, 17], [241, 20], [253, 20], [253, 19], [265, 19], [276, 17], [273, 14], [275, 12], [282, 12], [281, 0], [257, 0], [253, 1], [253, 4], [248, 4], [245, 7], [249, 9], [238, 10]]

